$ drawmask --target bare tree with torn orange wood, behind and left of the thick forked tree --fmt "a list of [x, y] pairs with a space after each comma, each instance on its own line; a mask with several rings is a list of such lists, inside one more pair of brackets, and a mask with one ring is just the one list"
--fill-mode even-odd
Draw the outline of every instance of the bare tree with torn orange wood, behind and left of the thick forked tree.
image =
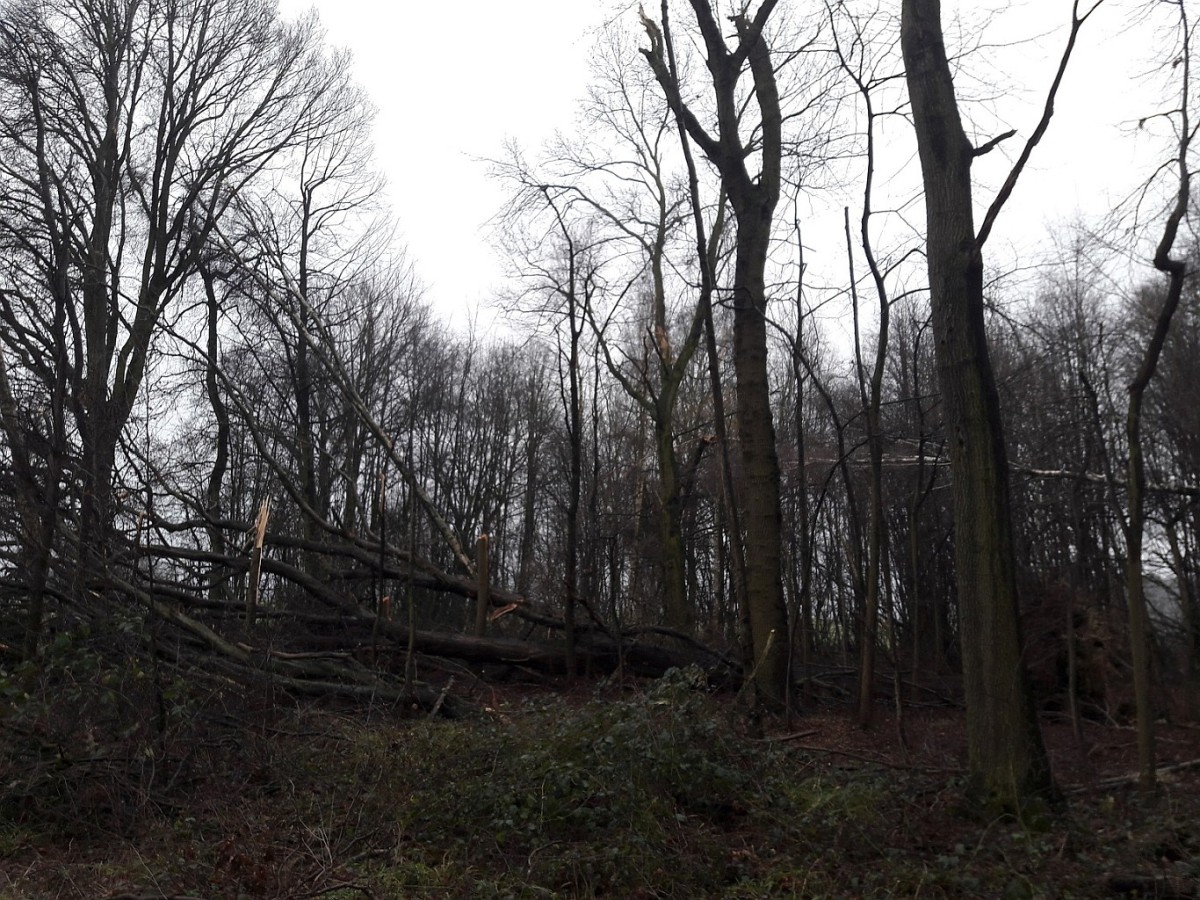
[[[670, 167], [671, 110], [653, 74], [631, 71], [624, 50], [622, 35], [610, 30], [596, 50], [596, 80], [584, 107], [587, 132], [574, 143], [559, 139], [545, 168], [546, 178], [590, 210], [596, 228], [612, 233], [612, 256], [622, 254], [619, 245], [631, 248], [625, 289], [610, 292], [617, 295], [613, 308], [584, 312], [610, 372], [654, 431], [662, 619], [690, 632], [695, 601], [688, 592], [676, 406], [700, 346], [703, 317], [700, 304], [689, 304], [692, 292], [672, 277], [684, 268], [672, 250], [685, 197]], [[712, 240], [720, 236], [718, 228]], [[682, 295], [690, 308], [676, 308], [671, 295]]]

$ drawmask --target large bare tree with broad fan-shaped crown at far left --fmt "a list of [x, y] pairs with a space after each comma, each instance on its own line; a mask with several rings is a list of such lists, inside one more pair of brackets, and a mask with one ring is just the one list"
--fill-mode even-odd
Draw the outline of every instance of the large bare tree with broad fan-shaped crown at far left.
[[[66, 354], [40, 355], [64, 364], [80, 455], [78, 571], [95, 572], [151, 344], [205, 235], [304, 132], [323, 88], [319, 34], [283, 25], [266, 2], [61, 0], [6, 5], [0, 43], [0, 228], [24, 272], [4, 286], [5, 336], [28, 356], [47, 310], [64, 325]], [[40, 376], [52, 395], [58, 377]]]

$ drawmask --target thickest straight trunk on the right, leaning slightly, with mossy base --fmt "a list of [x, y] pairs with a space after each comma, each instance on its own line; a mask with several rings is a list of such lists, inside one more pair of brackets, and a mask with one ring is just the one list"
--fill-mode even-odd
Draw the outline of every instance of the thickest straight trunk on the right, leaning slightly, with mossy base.
[[1054, 792], [1021, 658], [1000, 397], [988, 353], [983, 246], [938, 0], [904, 0], [901, 46], [925, 184], [937, 372], [953, 476], [955, 570], [972, 787], [1004, 809]]

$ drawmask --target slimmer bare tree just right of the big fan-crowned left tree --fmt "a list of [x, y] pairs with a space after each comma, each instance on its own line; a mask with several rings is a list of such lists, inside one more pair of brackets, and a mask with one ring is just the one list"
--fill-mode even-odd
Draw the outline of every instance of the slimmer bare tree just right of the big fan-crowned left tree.
[[[338, 355], [353, 359], [353, 342], [360, 336], [353, 323], [364, 320], [355, 306], [370, 302], [372, 283], [382, 288], [391, 280], [376, 264], [388, 257], [391, 229], [379, 209], [382, 180], [361, 139], [372, 110], [349, 78], [348, 59], [329, 59], [322, 80], [322, 96], [310, 104], [304, 133], [277, 161], [288, 175], [269, 191], [241, 198], [236, 222], [221, 238], [229, 240], [227, 232], [236, 235], [238, 244], [228, 245], [226, 253], [235, 257], [229, 277], [248, 286], [254, 314], [282, 343], [286, 376], [277, 389], [290, 395], [281, 397], [281, 409], [294, 416], [296, 475], [306, 505], [325, 518], [335, 490], [331, 449], [343, 422], [358, 416], [340, 400], [330, 373], [313, 360], [306, 336], [319, 318], [346, 342]], [[256, 289], [264, 281], [290, 289]], [[281, 301], [287, 308], [277, 308]], [[371, 320], [366, 314], [364, 324]], [[313, 520], [300, 522], [305, 536], [314, 540]], [[317, 557], [306, 557], [305, 564], [317, 565]]]

